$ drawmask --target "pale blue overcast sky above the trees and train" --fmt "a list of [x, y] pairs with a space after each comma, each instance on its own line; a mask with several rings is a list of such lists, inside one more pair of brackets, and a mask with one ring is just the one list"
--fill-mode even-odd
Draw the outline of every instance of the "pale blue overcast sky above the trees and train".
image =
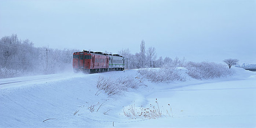
[[256, 0], [0, 0], [0, 37], [105, 50], [140, 41], [159, 56], [256, 63]]

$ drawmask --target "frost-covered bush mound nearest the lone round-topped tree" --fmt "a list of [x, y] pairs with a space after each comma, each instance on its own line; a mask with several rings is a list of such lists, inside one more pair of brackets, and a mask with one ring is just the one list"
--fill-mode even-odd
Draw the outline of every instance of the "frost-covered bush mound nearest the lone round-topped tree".
[[213, 79], [231, 76], [233, 71], [228, 69], [223, 64], [201, 62], [189, 62], [187, 64], [187, 74], [195, 79]]

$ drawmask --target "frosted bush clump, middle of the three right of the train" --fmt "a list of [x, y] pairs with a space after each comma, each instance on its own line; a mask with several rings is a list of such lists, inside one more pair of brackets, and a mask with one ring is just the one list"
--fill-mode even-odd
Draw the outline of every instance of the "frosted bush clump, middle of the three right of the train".
[[164, 67], [164, 68], [143, 68], [138, 70], [139, 74], [145, 76], [151, 82], [168, 83], [171, 81], [186, 81], [186, 76], [175, 67]]

